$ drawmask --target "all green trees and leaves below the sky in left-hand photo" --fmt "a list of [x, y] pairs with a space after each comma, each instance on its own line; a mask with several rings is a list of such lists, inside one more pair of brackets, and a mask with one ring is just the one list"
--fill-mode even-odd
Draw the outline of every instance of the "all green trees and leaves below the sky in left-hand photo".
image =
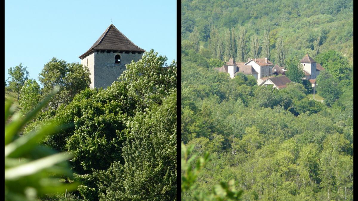
[[[58, 58], [40, 84], [21, 63], [10, 68], [5, 102], [13, 96], [18, 107], [5, 111], [18, 114], [5, 121], [6, 200], [175, 200], [176, 62], [166, 61], [145, 52], [106, 89], [90, 89], [88, 68]], [[45, 163], [57, 152], [69, 156], [50, 159], [66, 163]], [[30, 165], [36, 172], [15, 172]]]

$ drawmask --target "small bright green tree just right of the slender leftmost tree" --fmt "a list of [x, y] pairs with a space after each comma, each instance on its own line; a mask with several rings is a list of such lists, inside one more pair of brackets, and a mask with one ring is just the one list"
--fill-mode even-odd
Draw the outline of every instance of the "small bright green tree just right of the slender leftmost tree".
[[21, 107], [21, 113], [27, 114], [30, 112], [37, 106], [40, 99], [40, 85], [34, 79], [26, 80], [20, 92], [19, 105]]

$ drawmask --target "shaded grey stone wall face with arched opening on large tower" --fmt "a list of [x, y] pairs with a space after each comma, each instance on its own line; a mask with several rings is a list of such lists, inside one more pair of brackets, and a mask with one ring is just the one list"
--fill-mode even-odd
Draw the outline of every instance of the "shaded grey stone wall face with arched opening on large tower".
[[[115, 63], [115, 56], [117, 54], [121, 56], [120, 64]], [[94, 79], [92, 80], [93, 87], [106, 88], [118, 79], [118, 77], [126, 69], [125, 66], [126, 64], [131, 63], [132, 60], [137, 62], [139, 59], [142, 58], [143, 54], [95, 52], [91, 55], [94, 55], [94, 61], [95, 61], [94, 72], [93, 72]], [[83, 60], [86, 60], [86, 58]]]

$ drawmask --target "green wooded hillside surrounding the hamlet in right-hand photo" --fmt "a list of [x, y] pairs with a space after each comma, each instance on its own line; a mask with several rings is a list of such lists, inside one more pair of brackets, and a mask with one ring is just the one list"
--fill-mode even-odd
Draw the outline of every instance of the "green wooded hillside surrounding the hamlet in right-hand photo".
[[[183, 0], [181, 36], [183, 200], [353, 200], [353, 1]], [[230, 79], [230, 57], [293, 82]]]

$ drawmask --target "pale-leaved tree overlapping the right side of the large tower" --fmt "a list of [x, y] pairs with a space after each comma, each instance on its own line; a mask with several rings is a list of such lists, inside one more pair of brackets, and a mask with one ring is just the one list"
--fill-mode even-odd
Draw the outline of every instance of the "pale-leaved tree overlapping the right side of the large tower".
[[139, 108], [145, 109], [153, 102], [161, 104], [164, 97], [176, 92], [176, 62], [164, 68], [166, 60], [152, 49], [138, 62], [127, 64], [127, 70], [118, 78]]

